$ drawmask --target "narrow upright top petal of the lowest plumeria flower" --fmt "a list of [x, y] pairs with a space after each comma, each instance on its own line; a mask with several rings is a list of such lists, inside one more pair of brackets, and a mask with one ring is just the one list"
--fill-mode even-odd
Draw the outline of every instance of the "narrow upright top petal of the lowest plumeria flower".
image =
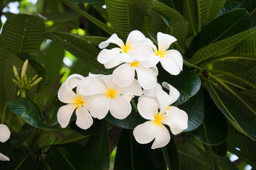
[[157, 89], [157, 100], [160, 103], [160, 113], [165, 113], [167, 107], [172, 103], [172, 98], [162, 89]]

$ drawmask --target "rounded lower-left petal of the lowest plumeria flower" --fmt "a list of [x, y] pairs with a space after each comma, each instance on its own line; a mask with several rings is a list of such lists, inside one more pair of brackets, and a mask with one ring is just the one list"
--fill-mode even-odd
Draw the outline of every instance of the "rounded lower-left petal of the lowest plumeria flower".
[[133, 136], [140, 144], [151, 142], [157, 135], [157, 125], [153, 121], [147, 121], [135, 127]]

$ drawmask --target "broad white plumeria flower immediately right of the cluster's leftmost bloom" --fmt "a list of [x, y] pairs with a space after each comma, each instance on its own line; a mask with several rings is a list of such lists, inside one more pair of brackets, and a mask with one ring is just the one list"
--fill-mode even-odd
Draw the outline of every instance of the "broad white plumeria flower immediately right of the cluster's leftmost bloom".
[[95, 95], [91, 101], [90, 113], [94, 118], [103, 119], [108, 111], [117, 119], [126, 118], [131, 112], [127, 95], [140, 96], [142, 89], [137, 80], [126, 88], [114, 84], [112, 76], [100, 76], [82, 81], [79, 92], [84, 96]]

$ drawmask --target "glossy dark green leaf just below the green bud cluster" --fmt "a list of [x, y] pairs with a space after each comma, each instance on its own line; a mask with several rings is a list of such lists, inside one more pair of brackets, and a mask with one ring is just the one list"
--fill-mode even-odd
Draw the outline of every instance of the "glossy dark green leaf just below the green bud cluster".
[[45, 125], [40, 120], [40, 111], [38, 106], [36, 106], [33, 101], [29, 101], [26, 98], [18, 98], [13, 101], [9, 101], [7, 106], [13, 113], [21, 116], [26, 123], [35, 128], [54, 129], [48, 125]]

